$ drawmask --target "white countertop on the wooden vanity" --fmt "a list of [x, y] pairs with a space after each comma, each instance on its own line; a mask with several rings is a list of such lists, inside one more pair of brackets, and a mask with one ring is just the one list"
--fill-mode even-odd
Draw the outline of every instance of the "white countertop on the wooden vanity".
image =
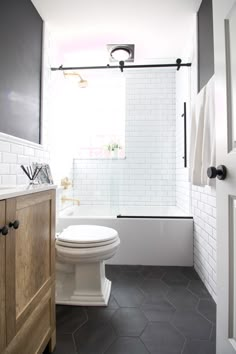
[[20, 195], [44, 192], [56, 188], [57, 186], [54, 184], [35, 184], [35, 185], [28, 184], [28, 185], [19, 185], [19, 186], [0, 185], [0, 200], [19, 197]]

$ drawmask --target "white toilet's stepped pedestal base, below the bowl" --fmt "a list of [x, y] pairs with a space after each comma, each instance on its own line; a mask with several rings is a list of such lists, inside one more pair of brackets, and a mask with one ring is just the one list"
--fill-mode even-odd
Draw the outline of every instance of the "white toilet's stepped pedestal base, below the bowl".
[[57, 270], [57, 304], [107, 306], [110, 293], [111, 281], [105, 277], [104, 262], [76, 264], [71, 274]]

